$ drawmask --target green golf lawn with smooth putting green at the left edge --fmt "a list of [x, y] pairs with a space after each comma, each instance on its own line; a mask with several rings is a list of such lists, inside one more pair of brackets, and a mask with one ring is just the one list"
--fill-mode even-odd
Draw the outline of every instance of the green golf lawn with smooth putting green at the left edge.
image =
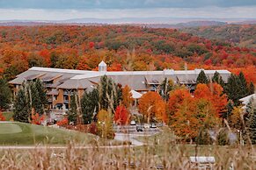
[[108, 145], [113, 142], [79, 131], [18, 122], [0, 123], [0, 145], [63, 145], [69, 141], [84, 145]]

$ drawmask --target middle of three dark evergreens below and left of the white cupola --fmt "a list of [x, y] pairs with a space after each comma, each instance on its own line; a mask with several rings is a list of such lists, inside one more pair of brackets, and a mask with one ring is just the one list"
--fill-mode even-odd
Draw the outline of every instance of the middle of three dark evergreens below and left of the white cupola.
[[99, 92], [98, 89], [93, 89], [91, 92], [84, 92], [81, 99], [81, 110], [84, 119], [84, 124], [91, 124], [93, 114], [99, 111]]

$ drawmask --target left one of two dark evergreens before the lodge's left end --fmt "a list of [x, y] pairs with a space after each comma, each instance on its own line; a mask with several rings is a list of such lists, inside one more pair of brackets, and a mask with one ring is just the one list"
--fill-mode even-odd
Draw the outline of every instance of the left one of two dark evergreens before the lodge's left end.
[[26, 93], [25, 84], [18, 90], [14, 103], [13, 119], [18, 122], [29, 123], [31, 117], [31, 105]]

